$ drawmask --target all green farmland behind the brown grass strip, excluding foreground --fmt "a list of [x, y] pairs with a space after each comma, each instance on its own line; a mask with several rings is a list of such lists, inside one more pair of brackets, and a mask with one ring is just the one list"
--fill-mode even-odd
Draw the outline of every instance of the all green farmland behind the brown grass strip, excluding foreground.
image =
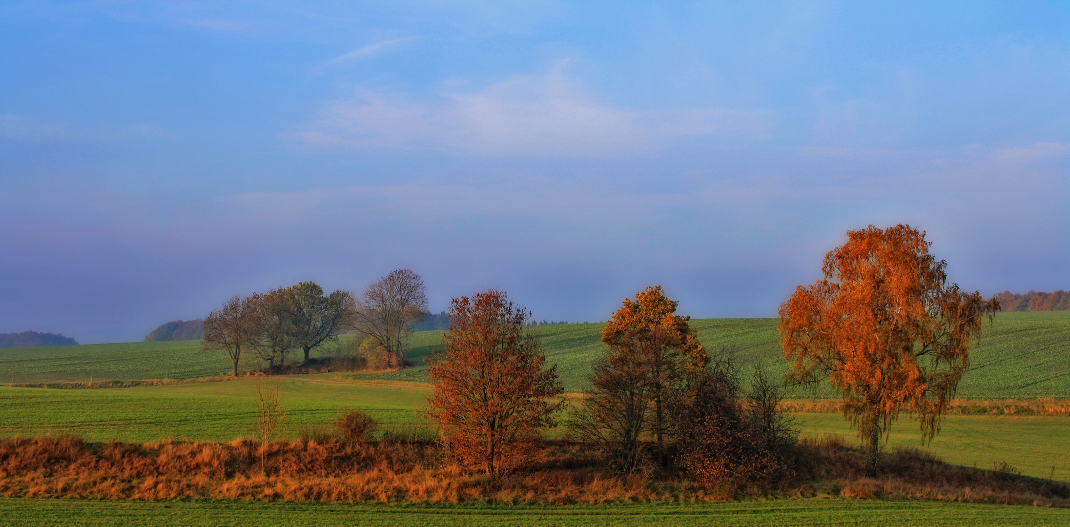
[[[712, 319], [696, 321], [712, 348], [734, 346], [743, 365], [763, 361], [783, 371], [776, 321]], [[548, 359], [556, 363], [566, 390], [582, 387], [590, 360], [601, 352], [598, 324], [542, 326]], [[973, 353], [974, 368], [960, 396], [977, 399], [1070, 397], [1070, 312], [1004, 313], [987, 328]], [[424, 356], [441, 347], [441, 331], [414, 335], [409, 357], [415, 367], [388, 373], [330, 373], [269, 377], [280, 387], [287, 409], [284, 434], [330, 427], [341, 408], [368, 410], [387, 428], [421, 421], [429, 394]], [[331, 355], [337, 346], [319, 353]], [[200, 351], [198, 341], [97, 344], [3, 350], [14, 360], [16, 382], [183, 378], [226, 371], [221, 354]], [[0, 362], [3, 363], [3, 362]], [[164, 374], [157, 374], [163, 372]], [[265, 378], [265, 377], [256, 377]], [[0, 386], [0, 434], [77, 434], [91, 441], [150, 441], [160, 438], [229, 441], [255, 430], [254, 377], [240, 381], [144, 386], [122, 389], [41, 389]], [[855, 441], [842, 416], [802, 414], [807, 434], [836, 433]], [[889, 445], [918, 446], [917, 425], [904, 417]], [[1066, 417], [948, 416], [932, 443], [948, 462], [981, 468], [1006, 461], [1036, 477], [1070, 481], [1070, 419]]]

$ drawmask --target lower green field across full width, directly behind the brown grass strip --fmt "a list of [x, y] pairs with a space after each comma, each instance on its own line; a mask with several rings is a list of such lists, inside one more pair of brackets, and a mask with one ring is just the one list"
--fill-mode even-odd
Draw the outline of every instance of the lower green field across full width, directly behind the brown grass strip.
[[[362, 408], [388, 428], [422, 423], [426, 386], [397, 381], [353, 381], [336, 374], [291, 375], [276, 383], [287, 410], [282, 434], [330, 427], [341, 408]], [[332, 378], [333, 377], [333, 378]], [[91, 441], [162, 438], [229, 441], [255, 431], [256, 379], [136, 388], [58, 390], [0, 387], [0, 434], [77, 434]], [[839, 414], [800, 414], [807, 435], [855, 434]], [[416, 424], [418, 425], [418, 424]], [[890, 447], [920, 447], [917, 424], [903, 417]], [[1070, 481], [1070, 418], [1056, 416], [947, 416], [926, 447], [950, 463], [990, 468], [1008, 462], [1023, 474]], [[1054, 467], [1054, 472], [1053, 472]]]

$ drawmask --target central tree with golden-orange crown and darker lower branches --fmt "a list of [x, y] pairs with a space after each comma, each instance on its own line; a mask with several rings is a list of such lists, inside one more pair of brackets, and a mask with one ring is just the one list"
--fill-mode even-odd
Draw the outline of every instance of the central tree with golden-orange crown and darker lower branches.
[[637, 293], [635, 300], [625, 298], [602, 328], [607, 355], [595, 365], [587, 413], [580, 415], [577, 427], [585, 437], [616, 438], [628, 455], [629, 470], [638, 466], [643, 432], [653, 434], [657, 461], [668, 465], [664, 440], [672, 429], [672, 388], [685, 373], [709, 362], [689, 325], [690, 316], [675, 314], [676, 305], [660, 285], [652, 285]]

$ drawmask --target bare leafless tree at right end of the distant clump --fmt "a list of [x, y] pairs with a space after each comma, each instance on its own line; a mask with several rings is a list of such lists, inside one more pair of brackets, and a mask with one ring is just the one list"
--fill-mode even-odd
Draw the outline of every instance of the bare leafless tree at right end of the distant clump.
[[350, 325], [379, 341], [391, 366], [400, 366], [412, 324], [427, 315], [424, 280], [409, 269], [397, 269], [364, 289], [353, 305]]

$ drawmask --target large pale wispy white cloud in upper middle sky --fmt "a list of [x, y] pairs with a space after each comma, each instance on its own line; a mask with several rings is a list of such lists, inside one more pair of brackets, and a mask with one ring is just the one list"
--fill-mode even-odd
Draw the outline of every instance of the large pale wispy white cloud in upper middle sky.
[[758, 112], [724, 108], [632, 110], [597, 100], [557, 63], [435, 103], [361, 92], [287, 140], [331, 150], [429, 148], [492, 156], [605, 156], [660, 146], [684, 136], [764, 138]]

